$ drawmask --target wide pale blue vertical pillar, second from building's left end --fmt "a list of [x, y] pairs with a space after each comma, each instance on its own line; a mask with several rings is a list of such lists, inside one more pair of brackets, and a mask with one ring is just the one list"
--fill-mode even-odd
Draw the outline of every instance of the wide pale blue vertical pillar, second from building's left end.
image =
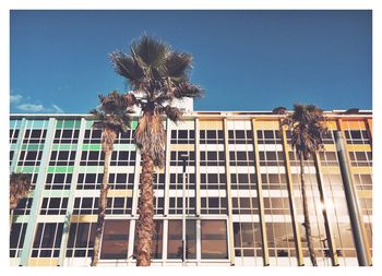
[[44, 148], [43, 148], [41, 161], [40, 161], [40, 166], [38, 168], [37, 183], [36, 183], [36, 188], [34, 191], [31, 214], [28, 217], [28, 224], [27, 224], [26, 232], [25, 232], [24, 247], [23, 247], [23, 251], [21, 253], [21, 260], [20, 260], [21, 266], [27, 266], [28, 261], [29, 261], [29, 256], [31, 256], [33, 239], [34, 239], [36, 224], [37, 224], [36, 220], [37, 220], [38, 209], [39, 209], [39, 205], [40, 205], [41, 197], [43, 197], [44, 182], [45, 182], [45, 178], [47, 175], [47, 168], [48, 168], [49, 157], [50, 157], [50, 149], [51, 149], [52, 140], [55, 136], [55, 129], [56, 129], [55, 123], [56, 123], [56, 119], [49, 118], [48, 128], [47, 128], [47, 135], [45, 139]]

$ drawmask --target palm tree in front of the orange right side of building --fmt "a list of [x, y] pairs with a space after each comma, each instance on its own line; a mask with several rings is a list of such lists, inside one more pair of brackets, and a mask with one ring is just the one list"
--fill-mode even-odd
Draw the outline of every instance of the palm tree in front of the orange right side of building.
[[282, 125], [287, 125], [291, 132], [291, 146], [300, 161], [300, 179], [303, 209], [303, 227], [310, 260], [313, 266], [317, 266], [317, 259], [312, 242], [312, 233], [309, 219], [308, 200], [306, 192], [306, 182], [303, 175], [303, 161], [309, 160], [317, 151], [323, 148], [322, 135], [326, 131], [324, 127], [325, 118], [323, 111], [314, 105], [294, 105], [294, 112], [287, 113]]

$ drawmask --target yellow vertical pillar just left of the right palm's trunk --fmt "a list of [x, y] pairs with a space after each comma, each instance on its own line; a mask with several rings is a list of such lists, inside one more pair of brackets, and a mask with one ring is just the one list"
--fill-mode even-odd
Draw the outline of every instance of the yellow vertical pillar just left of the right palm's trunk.
[[286, 172], [286, 177], [287, 177], [287, 187], [288, 187], [288, 194], [289, 194], [291, 226], [294, 229], [295, 242], [296, 242], [297, 264], [299, 266], [302, 266], [303, 265], [303, 255], [302, 255], [301, 236], [300, 236], [300, 229], [299, 229], [298, 223], [297, 223], [296, 204], [294, 201], [294, 183], [291, 180], [290, 160], [289, 160], [289, 155], [288, 155], [288, 144], [287, 144], [285, 129], [282, 130], [282, 134], [283, 134], [283, 147], [284, 147], [284, 158], [285, 158], [285, 170], [286, 170], [285, 172]]

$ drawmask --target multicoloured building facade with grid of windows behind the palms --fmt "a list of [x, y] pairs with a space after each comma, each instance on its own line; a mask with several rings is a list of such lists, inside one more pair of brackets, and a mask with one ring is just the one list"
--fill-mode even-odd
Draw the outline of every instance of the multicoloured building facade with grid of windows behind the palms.
[[[372, 115], [325, 115], [325, 149], [305, 166], [318, 263], [358, 265], [350, 184], [371, 264]], [[280, 119], [260, 111], [190, 111], [178, 124], [164, 122], [166, 166], [155, 173], [153, 265], [311, 265], [299, 163]], [[89, 265], [104, 170], [102, 133], [92, 123], [88, 115], [11, 115], [10, 171], [33, 180], [32, 193], [13, 214], [11, 265]], [[133, 141], [136, 124], [134, 118], [115, 144], [99, 266], [135, 265], [142, 165]]]

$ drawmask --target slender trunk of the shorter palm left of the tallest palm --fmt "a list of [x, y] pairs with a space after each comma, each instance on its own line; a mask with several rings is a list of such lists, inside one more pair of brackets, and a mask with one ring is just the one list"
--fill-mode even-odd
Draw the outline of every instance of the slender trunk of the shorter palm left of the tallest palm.
[[103, 178], [103, 184], [100, 187], [100, 193], [99, 193], [98, 218], [97, 218], [96, 232], [94, 238], [93, 257], [92, 257], [91, 266], [96, 266], [98, 264], [100, 239], [103, 236], [105, 213], [107, 207], [107, 192], [108, 192], [108, 182], [109, 182], [109, 164], [110, 164], [111, 151], [104, 151], [104, 152], [105, 152], [104, 178]]

